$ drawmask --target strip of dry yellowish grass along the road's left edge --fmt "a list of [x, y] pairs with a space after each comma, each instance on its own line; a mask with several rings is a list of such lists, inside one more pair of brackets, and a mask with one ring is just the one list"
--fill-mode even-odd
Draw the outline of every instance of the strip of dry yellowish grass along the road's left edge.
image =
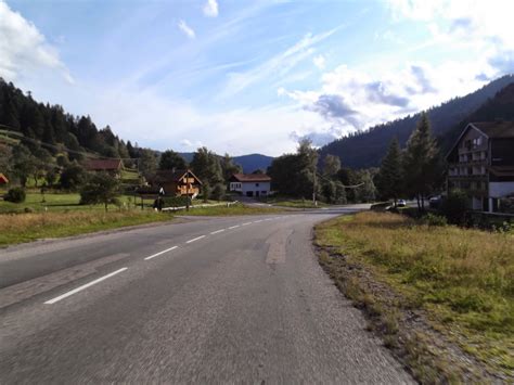
[[167, 213], [149, 210], [4, 214], [0, 216], [0, 246], [163, 222], [172, 218]]

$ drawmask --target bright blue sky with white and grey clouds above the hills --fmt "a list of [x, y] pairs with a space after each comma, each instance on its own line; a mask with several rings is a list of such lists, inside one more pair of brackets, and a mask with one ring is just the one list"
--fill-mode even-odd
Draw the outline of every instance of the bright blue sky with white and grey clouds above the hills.
[[0, 0], [0, 77], [155, 150], [278, 156], [514, 72], [512, 0]]

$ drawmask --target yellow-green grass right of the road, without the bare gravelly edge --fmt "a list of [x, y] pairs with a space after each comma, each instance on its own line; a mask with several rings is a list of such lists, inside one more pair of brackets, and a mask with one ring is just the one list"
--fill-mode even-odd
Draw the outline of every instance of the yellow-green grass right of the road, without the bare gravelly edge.
[[[318, 245], [332, 251], [321, 262], [335, 280], [343, 264], [363, 267], [398, 294], [388, 315], [422, 309], [434, 329], [489, 373], [514, 378], [512, 232], [428, 227], [400, 215], [361, 213], [324, 222], [316, 234]], [[348, 282], [339, 287], [359, 296]]]

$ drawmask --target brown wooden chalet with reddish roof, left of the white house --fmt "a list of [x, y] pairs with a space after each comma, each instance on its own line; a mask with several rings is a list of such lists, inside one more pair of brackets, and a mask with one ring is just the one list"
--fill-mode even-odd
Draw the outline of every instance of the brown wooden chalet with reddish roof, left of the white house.
[[150, 184], [162, 195], [190, 195], [194, 198], [200, 194], [202, 181], [190, 169], [159, 170], [150, 179]]

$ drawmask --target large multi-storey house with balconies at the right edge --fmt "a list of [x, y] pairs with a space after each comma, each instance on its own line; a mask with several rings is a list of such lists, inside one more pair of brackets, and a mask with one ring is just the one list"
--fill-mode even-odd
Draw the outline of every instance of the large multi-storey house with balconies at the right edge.
[[475, 210], [497, 211], [514, 193], [514, 121], [468, 124], [447, 161], [448, 190], [465, 191]]

